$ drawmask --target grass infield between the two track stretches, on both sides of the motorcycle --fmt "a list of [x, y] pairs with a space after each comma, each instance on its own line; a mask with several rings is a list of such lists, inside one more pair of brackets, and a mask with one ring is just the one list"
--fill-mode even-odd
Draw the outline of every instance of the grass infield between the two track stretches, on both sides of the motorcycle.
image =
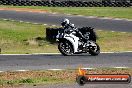
[[[46, 27], [17, 21], [0, 20], [1, 53], [57, 53], [57, 44], [46, 40]], [[97, 43], [101, 51], [131, 51], [132, 33], [99, 31]]]

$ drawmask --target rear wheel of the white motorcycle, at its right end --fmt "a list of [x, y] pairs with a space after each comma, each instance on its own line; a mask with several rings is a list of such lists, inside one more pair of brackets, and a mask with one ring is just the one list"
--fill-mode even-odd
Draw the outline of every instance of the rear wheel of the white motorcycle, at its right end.
[[93, 45], [89, 46], [89, 54], [96, 56], [100, 53], [100, 47], [96, 42], [92, 42]]

